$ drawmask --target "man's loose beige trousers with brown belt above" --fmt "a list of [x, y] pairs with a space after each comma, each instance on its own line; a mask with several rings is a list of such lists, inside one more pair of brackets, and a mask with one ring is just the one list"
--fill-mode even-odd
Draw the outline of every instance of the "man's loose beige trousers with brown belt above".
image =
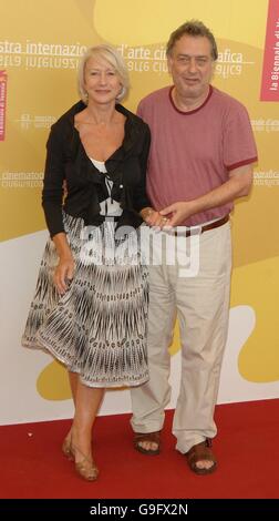
[[[184, 237], [184, 241], [189, 243], [189, 237]], [[165, 256], [167, 248], [169, 245], [165, 248]], [[170, 252], [169, 257], [172, 255]], [[169, 259], [167, 264], [165, 258], [162, 265], [149, 266], [151, 379], [147, 384], [131, 389], [133, 430], [161, 430], [165, 418], [164, 409], [170, 397], [168, 347], [177, 316], [182, 343], [182, 378], [173, 433], [177, 439], [176, 449], [183, 453], [205, 438], [215, 437], [217, 432], [214, 410], [228, 330], [230, 224], [200, 234], [199, 241], [190, 246], [192, 258], [195, 255], [199, 259], [199, 268], [194, 276], [187, 276], [185, 265], [180, 264], [179, 246], [173, 255], [173, 264], [169, 264]]]

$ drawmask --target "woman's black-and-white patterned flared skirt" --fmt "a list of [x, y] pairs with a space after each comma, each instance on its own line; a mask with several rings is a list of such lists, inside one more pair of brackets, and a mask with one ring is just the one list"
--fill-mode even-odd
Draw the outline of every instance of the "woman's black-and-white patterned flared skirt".
[[90, 387], [148, 380], [147, 268], [138, 233], [117, 237], [115, 223], [84, 227], [64, 214], [75, 272], [64, 295], [53, 284], [55, 246], [48, 241], [22, 345], [50, 351]]

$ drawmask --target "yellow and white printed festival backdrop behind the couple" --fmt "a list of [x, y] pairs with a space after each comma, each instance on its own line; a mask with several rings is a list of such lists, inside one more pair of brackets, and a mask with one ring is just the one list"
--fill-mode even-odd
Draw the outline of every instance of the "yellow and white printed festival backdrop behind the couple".
[[[64, 369], [46, 355], [25, 353], [20, 336], [46, 237], [40, 203], [45, 141], [50, 125], [78, 100], [79, 57], [99, 42], [116, 45], [132, 82], [126, 106], [135, 110], [142, 96], [170, 82], [165, 43], [169, 33], [190, 18], [203, 20], [215, 33], [219, 59], [214, 84], [247, 106], [259, 151], [252, 194], [236, 205], [232, 216], [235, 270], [219, 401], [278, 397], [279, 91], [273, 89], [272, 101], [262, 100], [260, 92], [262, 82], [269, 80], [267, 72], [262, 75], [265, 52], [272, 53], [266, 39], [267, 22], [273, 30], [273, 67], [279, 65], [279, 0], [0, 0], [0, 12], [4, 21], [0, 37], [4, 289], [0, 385], [4, 389], [0, 396], [10, 396], [9, 408], [7, 402], [1, 408], [1, 422], [71, 412], [71, 406], [62, 401], [70, 397]], [[271, 73], [275, 78], [275, 71]], [[178, 351], [176, 331], [170, 347], [173, 374], [179, 371]], [[177, 378], [172, 378], [175, 386]], [[107, 394], [104, 413], [128, 410], [126, 395], [115, 392], [120, 392], [115, 401], [113, 392]]]

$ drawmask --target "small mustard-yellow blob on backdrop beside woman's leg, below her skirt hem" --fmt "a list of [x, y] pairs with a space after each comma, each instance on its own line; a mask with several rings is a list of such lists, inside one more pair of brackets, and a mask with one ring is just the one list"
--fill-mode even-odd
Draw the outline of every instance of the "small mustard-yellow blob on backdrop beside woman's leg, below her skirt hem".
[[37, 390], [45, 400], [68, 400], [71, 398], [71, 389], [68, 372], [59, 361], [49, 364], [39, 375]]

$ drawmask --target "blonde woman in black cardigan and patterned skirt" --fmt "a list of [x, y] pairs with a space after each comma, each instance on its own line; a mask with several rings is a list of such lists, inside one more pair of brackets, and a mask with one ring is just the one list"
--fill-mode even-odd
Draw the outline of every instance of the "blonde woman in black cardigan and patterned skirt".
[[127, 89], [122, 57], [105, 44], [89, 49], [79, 72], [82, 101], [52, 126], [46, 145], [42, 204], [51, 238], [22, 340], [68, 367], [75, 413], [62, 450], [91, 481], [104, 389], [148, 379], [147, 270], [135, 229], [151, 214], [149, 130], [118, 104]]

